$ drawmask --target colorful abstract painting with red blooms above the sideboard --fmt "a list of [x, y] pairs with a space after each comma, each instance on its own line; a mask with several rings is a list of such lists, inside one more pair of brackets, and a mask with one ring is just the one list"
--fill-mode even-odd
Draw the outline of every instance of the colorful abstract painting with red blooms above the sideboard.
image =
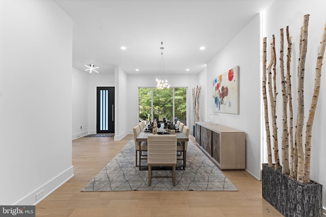
[[213, 79], [212, 111], [239, 114], [239, 66]]

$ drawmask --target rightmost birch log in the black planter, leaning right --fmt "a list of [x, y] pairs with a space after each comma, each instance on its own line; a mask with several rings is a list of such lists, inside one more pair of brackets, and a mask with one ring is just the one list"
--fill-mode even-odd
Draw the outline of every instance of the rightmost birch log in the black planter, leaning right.
[[326, 23], [324, 26], [322, 40], [319, 47], [317, 63], [316, 63], [316, 72], [315, 72], [315, 86], [314, 92], [311, 100], [311, 106], [308, 116], [308, 121], [306, 125], [306, 144], [305, 144], [305, 173], [304, 173], [304, 183], [308, 183], [310, 181], [310, 151], [311, 151], [311, 132], [312, 125], [315, 116], [316, 106], [318, 102], [319, 89], [320, 89], [320, 77], [321, 77], [321, 66], [322, 60], [324, 57], [326, 45]]

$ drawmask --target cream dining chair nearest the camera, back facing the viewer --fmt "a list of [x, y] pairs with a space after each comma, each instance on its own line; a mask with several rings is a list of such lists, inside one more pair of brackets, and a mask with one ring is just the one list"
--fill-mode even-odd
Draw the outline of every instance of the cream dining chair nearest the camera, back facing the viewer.
[[[175, 186], [175, 167], [177, 164], [176, 135], [148, 135], [147, 137], [148, 186], [151, 178], [172, 178]], [[152, 176], [153, 166], [172, 167], [172, 176]]]

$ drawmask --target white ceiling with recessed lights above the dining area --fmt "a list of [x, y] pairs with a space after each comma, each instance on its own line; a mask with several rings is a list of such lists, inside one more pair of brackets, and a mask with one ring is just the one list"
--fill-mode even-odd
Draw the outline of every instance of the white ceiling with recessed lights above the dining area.
[[114, 73], [118, 65], [127, 74], [157, 74], [163, 42], [166, 73], [188, 74], [200, 72], [275, 0], [54, 1], [73, 20], [73, 67], [94, 64], [100, 73]]

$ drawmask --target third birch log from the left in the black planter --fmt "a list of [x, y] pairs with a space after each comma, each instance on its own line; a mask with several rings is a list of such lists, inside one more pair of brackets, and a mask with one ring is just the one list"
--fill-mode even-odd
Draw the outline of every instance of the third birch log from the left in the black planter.
[[288, 174], [289, 171], [289, 143], [287, 129], [287, 93], [284, 74], [284, 30], [280, 29], [280, 76], [282, 88], [282, 172]]

